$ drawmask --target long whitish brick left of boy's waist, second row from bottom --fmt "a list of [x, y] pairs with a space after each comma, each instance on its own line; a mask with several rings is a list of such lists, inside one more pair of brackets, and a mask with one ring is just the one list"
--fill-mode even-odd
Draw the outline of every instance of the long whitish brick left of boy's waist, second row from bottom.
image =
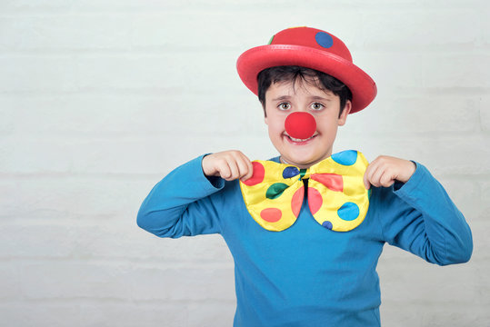
[[230, 268], [145, 267], [127, 263], [25, 264], [25, 297], [47, 299], [131, 299], [189, 301], [234, 299]]

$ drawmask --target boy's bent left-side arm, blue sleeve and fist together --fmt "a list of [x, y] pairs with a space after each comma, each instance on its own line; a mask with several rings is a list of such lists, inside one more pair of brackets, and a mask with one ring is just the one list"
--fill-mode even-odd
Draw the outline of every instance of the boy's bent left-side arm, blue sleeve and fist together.
[[140, 207], [138, 226], [160, 237], [220, 233], [219, 213], [227, 206], [213, 194], [225, 180], [246, 180], [252, 173], [252, 163], [239, 151], [195, 158], [155, 185]]

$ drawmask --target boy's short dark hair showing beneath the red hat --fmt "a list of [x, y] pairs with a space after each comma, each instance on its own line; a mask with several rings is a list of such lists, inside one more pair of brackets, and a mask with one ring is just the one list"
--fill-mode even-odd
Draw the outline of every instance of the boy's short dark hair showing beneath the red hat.
[[[325, 74], [311, 68], [302, 66], [285, 65], [266, 68], [257, 75], [258, 99], [264, 108], [265, 114], [265, 92], [273, 83], [292, 81], [295, 84], [298, 77], [308, 84], [315, 84], [322, 90], [331, 91], [340, 98], [340, 114], [344, 111], [347, 100], [352, 101], [352, 93], [349, 88], [334, 76]], [[320, 84], [318, 84], [318, 81]]]

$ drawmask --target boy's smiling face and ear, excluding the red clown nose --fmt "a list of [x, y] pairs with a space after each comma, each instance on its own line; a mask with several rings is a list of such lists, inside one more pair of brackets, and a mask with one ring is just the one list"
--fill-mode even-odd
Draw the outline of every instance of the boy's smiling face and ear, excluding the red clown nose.
[[[350, 109], [351, 102], [347, 101], [339, 117], [338, 95], [302, 79], [296, 80], [295, 85], [293, 82], [273, 83], [265, 93], [265, 124], [269, 138], [281, 159], [299, 168], [308, 168], [332, 154], [337, 128], [345, 124]], [[315, 117], [316, 131], [310, 139], [295, 142], [286, 134], [285, 118], [295, 112], [307, 112]]]

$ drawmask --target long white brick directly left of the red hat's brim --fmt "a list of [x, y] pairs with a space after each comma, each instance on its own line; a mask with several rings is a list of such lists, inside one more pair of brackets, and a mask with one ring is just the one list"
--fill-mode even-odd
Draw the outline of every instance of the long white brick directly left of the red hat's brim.
[[220, 90], [225, 93], [231, 86], [242, 87], [236, 79], [232, 80], [236, 74], [235, 61], [235, 55], [228, 52], [94, 54], [78, 58], [75, 69], [83, 90], [194, 90], [201, 93]]

